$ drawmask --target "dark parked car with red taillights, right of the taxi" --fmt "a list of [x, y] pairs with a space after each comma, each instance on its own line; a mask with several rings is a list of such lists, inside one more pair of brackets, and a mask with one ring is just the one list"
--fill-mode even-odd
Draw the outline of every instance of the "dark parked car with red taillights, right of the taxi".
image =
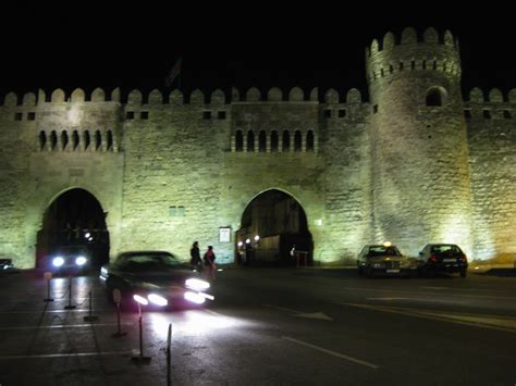
[[468, 259], [455, 244], [427, 244], [419, 252], [419, 272], [426, 276], [437, 273], [458, 273], [466, 277]]

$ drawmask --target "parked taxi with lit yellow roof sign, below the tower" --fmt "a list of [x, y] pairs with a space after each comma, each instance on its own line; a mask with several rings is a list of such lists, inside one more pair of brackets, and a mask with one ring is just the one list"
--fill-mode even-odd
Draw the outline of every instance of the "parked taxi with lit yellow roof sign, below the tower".
[[407, 258], [389, 242], [365, 246], [357, 257], [359, 275], [409, 276], [417, 272], [415, 259]]

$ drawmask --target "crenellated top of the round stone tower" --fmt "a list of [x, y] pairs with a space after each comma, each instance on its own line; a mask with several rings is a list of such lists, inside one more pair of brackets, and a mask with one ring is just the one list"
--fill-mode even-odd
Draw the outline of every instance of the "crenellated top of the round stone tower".
[[366, 48], [366, 76], [369, 84], [390, 78], [400, 72], [438, 71], [460, 77], [458, 41], [446, 30], [440, 35], [427, 28], [419, 39], [416, 30], [405, 28], [400, 41], [388, 33], [380, 42]]

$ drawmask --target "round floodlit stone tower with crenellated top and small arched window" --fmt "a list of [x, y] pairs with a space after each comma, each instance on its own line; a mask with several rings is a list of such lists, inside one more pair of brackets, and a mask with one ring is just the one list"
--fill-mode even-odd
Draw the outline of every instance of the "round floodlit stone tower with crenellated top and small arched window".
[[428, 242], [471, 251], [458, 42], [446, 30], [388, 33], [366, 49], [376, 241], [417, 254]]

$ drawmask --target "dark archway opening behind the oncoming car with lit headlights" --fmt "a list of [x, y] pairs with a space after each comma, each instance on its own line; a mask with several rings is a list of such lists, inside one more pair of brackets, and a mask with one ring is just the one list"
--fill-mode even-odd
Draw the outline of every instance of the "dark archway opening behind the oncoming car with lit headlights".
[[71, 189], [60, 195], [47, 208], [42, 228], [37, 234], [36, 266], [62, 247], [85, 247], [91, 258], [91, 269], [109, 261], [109, 232], [100, 202], [84, 189]]

